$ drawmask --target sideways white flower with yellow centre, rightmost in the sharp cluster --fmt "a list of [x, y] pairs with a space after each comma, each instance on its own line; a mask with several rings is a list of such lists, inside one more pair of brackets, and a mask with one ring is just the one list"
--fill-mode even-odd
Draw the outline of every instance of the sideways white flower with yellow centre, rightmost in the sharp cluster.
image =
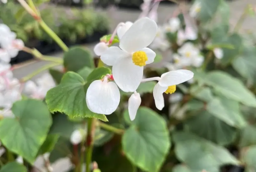
[[156, 108], [162, 110], [164, 108], [163, 93], [174, 93], [176, 85], [188, 81], [193, 78], [194, 73], [188, 70], [169, 71], [161, 75], [158, 83], [154, 87], [153, 96], [155, 99]]

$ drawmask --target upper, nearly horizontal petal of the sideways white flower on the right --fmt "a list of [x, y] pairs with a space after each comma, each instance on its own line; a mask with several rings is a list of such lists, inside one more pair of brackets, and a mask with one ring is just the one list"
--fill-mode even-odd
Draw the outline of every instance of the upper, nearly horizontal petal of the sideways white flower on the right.
[[185, 69], [176, 71], [169, 71], [161, 75], [161, 79], [158, 82], [160, 86], [173, 86], [186, 82], [193, 78], [194, 73]]

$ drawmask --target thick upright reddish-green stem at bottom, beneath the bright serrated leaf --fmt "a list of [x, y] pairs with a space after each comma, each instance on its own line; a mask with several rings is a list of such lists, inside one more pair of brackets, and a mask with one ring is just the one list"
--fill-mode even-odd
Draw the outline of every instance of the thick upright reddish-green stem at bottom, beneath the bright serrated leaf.
[[93, 123], [93, 118], [88, 118], [87, 138], [86, 138], [86, 170], [85, 170], [87, 172], [90, 172], [90, 164], [92, 162], [92, 148], [93, 148], [92, 123]]

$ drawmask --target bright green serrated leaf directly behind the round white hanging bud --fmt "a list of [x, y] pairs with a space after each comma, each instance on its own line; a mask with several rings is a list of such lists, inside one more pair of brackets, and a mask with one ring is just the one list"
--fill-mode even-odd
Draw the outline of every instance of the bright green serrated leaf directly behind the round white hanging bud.
[[60, 85], [47, 92], [45, 101], [52, 113], [58, 111], [71, 117], [94, 117], [108, 121], [105, 115], [92, 113], [88, 109], [85, 88], [88, 87], [84, 79], [79, 74], [69, 71], [63, 76]]

